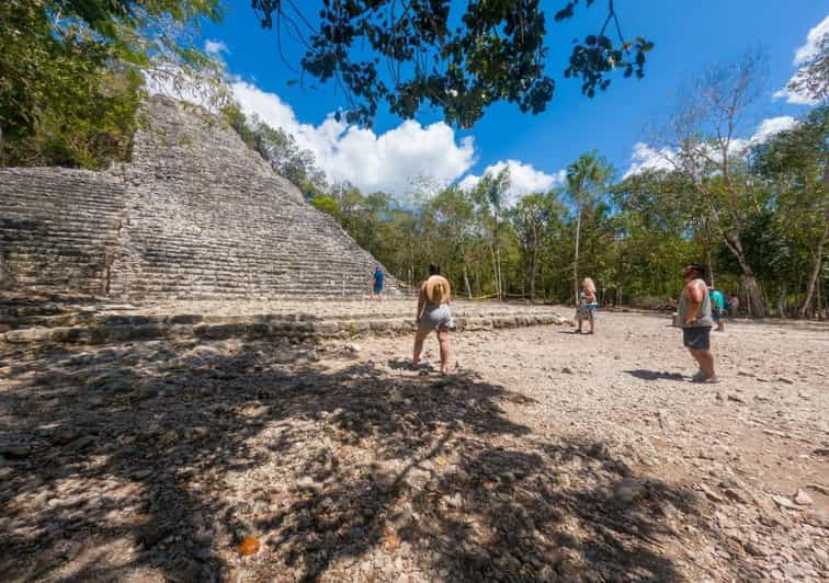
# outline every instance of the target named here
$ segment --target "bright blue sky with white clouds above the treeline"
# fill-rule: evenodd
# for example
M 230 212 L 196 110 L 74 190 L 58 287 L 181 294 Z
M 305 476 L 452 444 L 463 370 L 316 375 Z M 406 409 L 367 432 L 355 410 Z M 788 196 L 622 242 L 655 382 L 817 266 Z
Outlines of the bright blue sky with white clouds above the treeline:
M 310 11 L 320 2 L 299 3 Z M 435 124 L 440 116 L 429 111 L 414 124 L 381 112 L 373 132 L 336 124 L 329 115 L 344 105 L 342 95 L 332 85 L 316 90 L 288 85 L 297 75 L 281 61 L 275 33 L 260 28 L 248 2 L 234 2 L 222 24 L 204 27 L 203 37 L 214 48 L 227 47 L 222 56 L 240 80 L 235 87 L 246 111 L 298 134 L 300 145 L 317 155 L 332 180 L 399 195 L 419 174 L 470 184 L 487 168 L 512 160 L 520 195 L 556 183 L 569 162 L 591 149 L 624 174 L 637 142 L 647 141 L 646 127 L 665 119 L 671 95 L 683 80 L 758 45 L 769 55 L 770 77 L 765 94 L 749 114 L 745 137 L 764 119 L 803 115 L 806 105 L 773 99 L 773 93 L 795 72 L 795 52 L 806 44 L 809 31 L 821 23 L 829 27 L 826 0 L 616 0 L 625 34 L 646 36 L 656 48 L 648 55 L 643 80 L 618 76 L 607 92 L 590 100 L 581 95 L 579 82 L 565 79 L 563 71 L 570 41 L 601 26 L 604 1 L 582 9 L 567 23 L 552 20 L 564 0 L 544 4 L 548 4 L 548 69 L 556 79 L 547 111 L 522 114 L 516 106 L 497 104 L 463 132 Z M 287 55 L 296 56 L 289 45 L 283 37 Z

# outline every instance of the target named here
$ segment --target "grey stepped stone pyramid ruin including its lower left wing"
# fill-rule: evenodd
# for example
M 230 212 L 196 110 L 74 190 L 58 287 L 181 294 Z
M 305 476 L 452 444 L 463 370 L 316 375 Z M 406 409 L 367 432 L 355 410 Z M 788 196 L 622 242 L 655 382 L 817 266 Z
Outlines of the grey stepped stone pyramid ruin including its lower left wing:
M 349 298 L 377 261 L 217 118 L 154 96 L 132 161 L 0 169 L 0 287 L 126 300 Z M 388 292 L 400 285 L 388 278 Z

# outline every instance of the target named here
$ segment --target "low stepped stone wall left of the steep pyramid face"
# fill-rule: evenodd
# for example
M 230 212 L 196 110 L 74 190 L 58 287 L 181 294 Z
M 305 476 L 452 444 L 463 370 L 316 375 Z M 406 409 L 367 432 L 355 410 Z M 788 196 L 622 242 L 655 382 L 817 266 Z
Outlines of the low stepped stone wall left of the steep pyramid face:
M 0 287 L 105 295 L 124 193 L 101 172 L 0 169 Z

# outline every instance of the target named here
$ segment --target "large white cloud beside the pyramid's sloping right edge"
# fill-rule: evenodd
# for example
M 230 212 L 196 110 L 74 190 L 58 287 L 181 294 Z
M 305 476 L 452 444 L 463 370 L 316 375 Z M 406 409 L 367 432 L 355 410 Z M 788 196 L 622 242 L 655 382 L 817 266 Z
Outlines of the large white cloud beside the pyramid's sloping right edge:
M 447 184 L 475 163 L 473 138 L 458 142 L 443 122 L 422 126 L 406 121 L 381 135 L 337 122 L 332 115 L 314 126 L 300 123 L 275 93 L 242 81 L 231 87 L 246 114 L 257 114 L 268 125 L 292 134 L 300 148 L 314 153 L 332 183 L 349 181 L 363 192 L 401 196 L 420 176 Z

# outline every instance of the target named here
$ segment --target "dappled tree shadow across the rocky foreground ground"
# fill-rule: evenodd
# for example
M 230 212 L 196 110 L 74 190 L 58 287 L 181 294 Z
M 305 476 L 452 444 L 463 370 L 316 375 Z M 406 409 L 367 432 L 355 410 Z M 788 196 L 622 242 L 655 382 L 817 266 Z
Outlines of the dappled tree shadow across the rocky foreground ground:
M 264 343 L 54 351 L 0 384 L 11 581 L 682 579 L 693 494 L 541 439 L 526 397 Z M 667 519 L 667 517 L 670 518 Z M 259 555 L 240 558 L 247 536 Z M 21 558 L 26 557 L 26 560 Z

